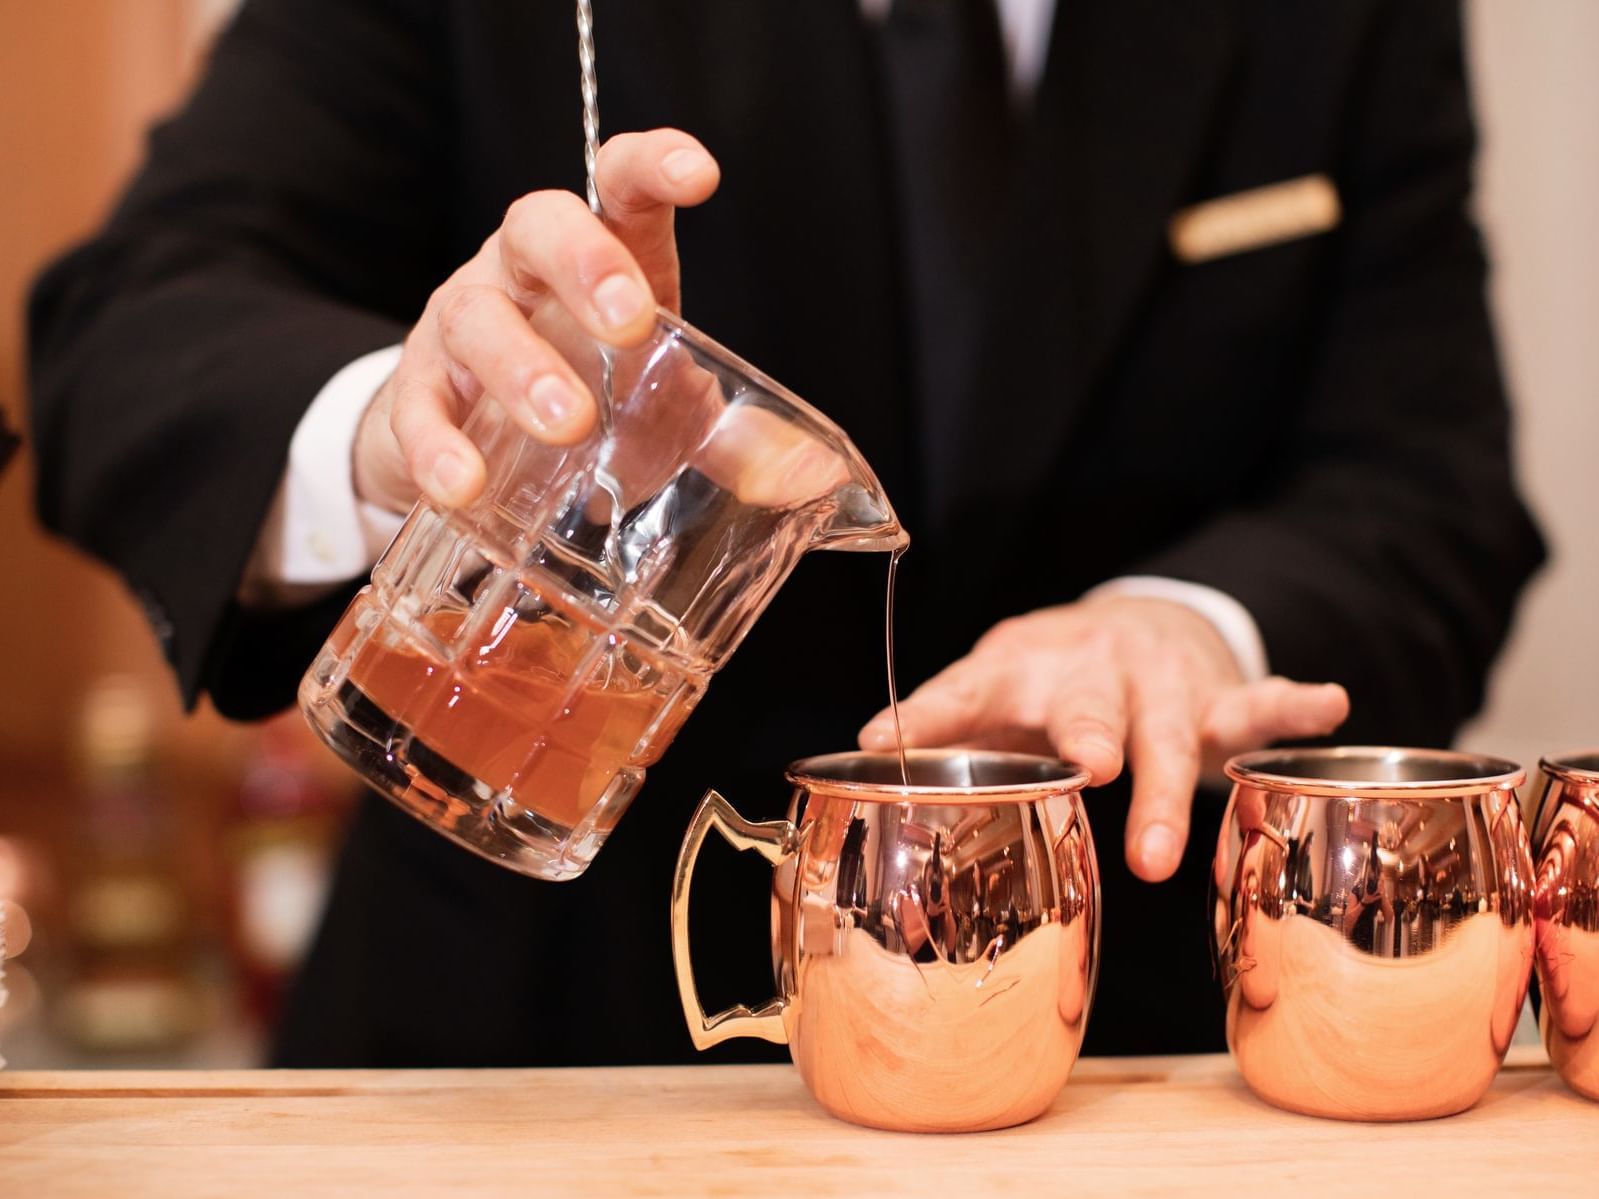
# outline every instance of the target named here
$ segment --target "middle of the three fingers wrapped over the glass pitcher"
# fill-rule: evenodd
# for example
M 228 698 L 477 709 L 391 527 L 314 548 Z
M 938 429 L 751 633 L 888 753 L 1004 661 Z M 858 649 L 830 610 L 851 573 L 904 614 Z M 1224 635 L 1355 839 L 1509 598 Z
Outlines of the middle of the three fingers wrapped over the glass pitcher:
M 593 395 L 499 288 L 451 291 L 438 331 L 449 358 L 539 441 L 569 446 L 593 428 Z

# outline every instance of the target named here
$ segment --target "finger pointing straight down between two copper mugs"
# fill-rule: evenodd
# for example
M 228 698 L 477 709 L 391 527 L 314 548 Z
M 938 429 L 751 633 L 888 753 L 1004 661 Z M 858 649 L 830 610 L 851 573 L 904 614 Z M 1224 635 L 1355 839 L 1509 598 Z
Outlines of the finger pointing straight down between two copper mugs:
M 1199 721 L 1186 684 L 1145 683 L 1134 689 L 1132 806 L 1127 865 L 1146 882 L 1172 876 L 1188 842 L 1188 811 L 1199 783 Z

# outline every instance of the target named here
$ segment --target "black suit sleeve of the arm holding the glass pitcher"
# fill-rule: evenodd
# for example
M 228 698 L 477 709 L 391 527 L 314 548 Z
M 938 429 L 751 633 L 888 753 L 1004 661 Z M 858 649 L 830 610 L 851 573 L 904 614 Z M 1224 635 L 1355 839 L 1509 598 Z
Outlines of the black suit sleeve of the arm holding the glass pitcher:
M 185 702 L 293 699 L 337 604 L 233 603 L 310 400 L 448 270 L 422 0 L 251 0 L 29 310 L 38 510 L 118 571 Z

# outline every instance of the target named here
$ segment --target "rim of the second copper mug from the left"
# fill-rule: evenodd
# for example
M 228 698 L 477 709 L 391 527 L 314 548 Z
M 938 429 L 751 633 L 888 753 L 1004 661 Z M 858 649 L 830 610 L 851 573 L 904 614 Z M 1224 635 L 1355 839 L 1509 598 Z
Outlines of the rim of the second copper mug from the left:
M 1527 771 L 1508 758 L 1402 745 L 1255 750 L 1228 759 L 1242 787 L 1348 799 L 1425 799 L 1508 791 Z

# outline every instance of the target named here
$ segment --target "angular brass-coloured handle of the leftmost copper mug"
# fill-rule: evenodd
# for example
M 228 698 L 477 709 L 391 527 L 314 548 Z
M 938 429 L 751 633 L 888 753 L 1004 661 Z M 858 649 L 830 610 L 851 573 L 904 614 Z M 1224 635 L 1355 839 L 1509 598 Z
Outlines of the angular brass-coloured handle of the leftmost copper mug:
M 705 791 L 705 798 L 694 809 L 694 820 L 689 822 L 683 849 L 678 850 L 678 868 L 672 876 L 672 964 L 678 974 L 678 998 L 683 1001 L 689 1036 L 696 1049 L 710 1049 L 739 1036 L 756 1036 L 785 1046 L 788 1033 L 784 1030 L 784 1009 L 788 1001 L 782 996 L 753 1012 L 744 1004 L 736 1004 L 716 1015 L 705 1015 L 700 1004 L 699 988 L 694 985 L 694 962 L 689 959 L 689 889 L 694 886 L 694 865 L 712 828 L 734 849 L 753 849 L 774 866 L 787 862 L 800 849 L 800 831 L 788 820 L 745 820 L 716 791 Z

